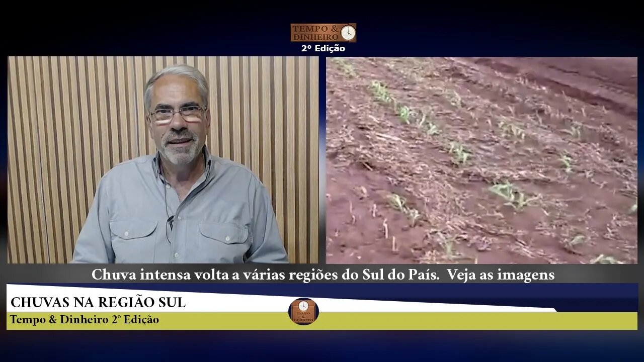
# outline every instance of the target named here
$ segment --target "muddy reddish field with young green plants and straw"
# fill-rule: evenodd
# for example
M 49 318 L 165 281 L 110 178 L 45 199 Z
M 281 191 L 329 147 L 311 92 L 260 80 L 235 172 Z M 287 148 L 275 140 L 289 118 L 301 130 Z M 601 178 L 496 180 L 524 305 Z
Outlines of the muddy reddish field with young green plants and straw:
M 328 58 L 327 263 L 637 263 L 637 77 Z

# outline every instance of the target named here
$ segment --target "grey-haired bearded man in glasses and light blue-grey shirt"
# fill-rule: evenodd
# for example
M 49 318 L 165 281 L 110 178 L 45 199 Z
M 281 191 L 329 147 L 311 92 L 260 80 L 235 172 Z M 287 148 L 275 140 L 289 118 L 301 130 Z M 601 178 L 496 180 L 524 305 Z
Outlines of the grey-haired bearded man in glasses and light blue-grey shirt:
M 99 182 L 72 263 L 287 263 L 269 195 L 246 167 L 211 155 L 209 88 L 191 66 L 146 84 L 156 155 Z

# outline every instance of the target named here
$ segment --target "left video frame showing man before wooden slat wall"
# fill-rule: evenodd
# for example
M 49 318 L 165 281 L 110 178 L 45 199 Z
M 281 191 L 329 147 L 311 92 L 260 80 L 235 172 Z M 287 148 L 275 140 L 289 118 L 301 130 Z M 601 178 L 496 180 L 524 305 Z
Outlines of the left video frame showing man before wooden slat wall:
M 9 57 L 8 263 L 317 263 L 317 57 Z

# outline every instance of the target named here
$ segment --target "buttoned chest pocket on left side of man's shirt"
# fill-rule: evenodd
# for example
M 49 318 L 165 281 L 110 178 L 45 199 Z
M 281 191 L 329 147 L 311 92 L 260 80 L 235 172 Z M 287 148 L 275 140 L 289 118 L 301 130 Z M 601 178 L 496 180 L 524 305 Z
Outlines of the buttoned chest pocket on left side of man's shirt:
M 115 263 L 153 263 L 157 225 L 153 220 L 109 222 Z

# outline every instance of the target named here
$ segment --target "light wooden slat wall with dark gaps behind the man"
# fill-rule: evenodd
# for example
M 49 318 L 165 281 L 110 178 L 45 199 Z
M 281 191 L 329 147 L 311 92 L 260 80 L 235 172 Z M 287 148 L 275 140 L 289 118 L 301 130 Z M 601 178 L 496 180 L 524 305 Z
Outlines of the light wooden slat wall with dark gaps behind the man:
M 269 189 L 290 262 L 318 262 L 317 57 L 9 57 L 8 262 L 71 260 L 102 175 L 155 152 L 144 86 L 177 63 L 210 83 L 211 152 Z

